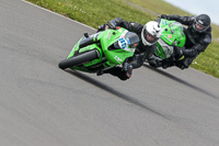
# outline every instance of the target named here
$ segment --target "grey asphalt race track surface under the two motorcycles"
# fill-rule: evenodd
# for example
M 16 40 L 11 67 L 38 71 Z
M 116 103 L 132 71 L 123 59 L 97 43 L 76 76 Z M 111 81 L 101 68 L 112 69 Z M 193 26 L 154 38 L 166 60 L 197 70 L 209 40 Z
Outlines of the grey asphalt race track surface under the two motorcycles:
M 58 63 L 94 30 L 0 0 L 1 146 L 218 146 L 219 79 L 147 65 L 120 81 Z

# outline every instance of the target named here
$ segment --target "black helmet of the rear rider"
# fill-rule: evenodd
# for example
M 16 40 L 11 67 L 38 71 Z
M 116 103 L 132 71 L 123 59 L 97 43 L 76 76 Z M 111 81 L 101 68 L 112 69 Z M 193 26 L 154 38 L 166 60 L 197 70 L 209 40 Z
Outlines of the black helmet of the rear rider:
M 210 26 L 210 18 L 207 14 L 200 14 L 195 18 L 193 29 L 199 33 L 205 32 Z

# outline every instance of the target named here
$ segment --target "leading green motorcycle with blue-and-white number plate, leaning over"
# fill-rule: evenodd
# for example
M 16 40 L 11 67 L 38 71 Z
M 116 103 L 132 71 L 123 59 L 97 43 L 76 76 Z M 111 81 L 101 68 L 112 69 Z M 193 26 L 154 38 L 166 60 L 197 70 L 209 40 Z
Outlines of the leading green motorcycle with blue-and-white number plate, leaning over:
M 84 33 L 68 57 L 59 63 L 59 68 L 97 74 L 123 65 L 134 55 L 139 41 L 137 34 L 123 27 L 92 35 Z

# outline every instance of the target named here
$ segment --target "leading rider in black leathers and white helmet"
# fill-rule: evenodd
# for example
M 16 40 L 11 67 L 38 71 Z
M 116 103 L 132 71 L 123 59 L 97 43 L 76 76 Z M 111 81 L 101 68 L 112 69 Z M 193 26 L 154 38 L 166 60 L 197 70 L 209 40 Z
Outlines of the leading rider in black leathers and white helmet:
M 161 27 L 155 21 L 149 21 L 143 26 L 137 22 L 127 22 L 122 18 L 116 18 L 108 21 L 106 24 L 100 25 L 97 32 L 104 31 L 106 27 L 116 29 L 117 26 L 136 33 L 139 36 L 140 42 L 136 47 L 134 56 L 128 58 L 123 67 L 114 67 L 108 70 L 102 70 L 101 72 L 97 72 L 97 76 L 103 74 L 111 74 L 118 77 L 120 80 L 127 80 L 131 77 L 132 69 L 141 67 L 143 61 L 154 54 L 157 48 L 157 41 L 161 36 Z

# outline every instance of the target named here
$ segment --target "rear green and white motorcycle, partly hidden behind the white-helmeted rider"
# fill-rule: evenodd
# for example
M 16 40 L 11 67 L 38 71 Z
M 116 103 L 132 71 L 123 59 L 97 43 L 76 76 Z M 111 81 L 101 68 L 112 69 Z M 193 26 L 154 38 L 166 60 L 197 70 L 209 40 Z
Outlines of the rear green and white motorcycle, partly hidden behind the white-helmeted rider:
M 160 26 L 162 34 L 157 43 L 155 54 L 147 60 L 153 67 L 160 67 L 163 60 L 175 61 L 184 58 L 183 55 L 176 54 L 176 49 L 183 47 L 186 41 L 183 25 L 176 21 L 161 19 Z

